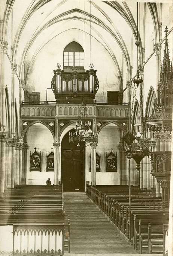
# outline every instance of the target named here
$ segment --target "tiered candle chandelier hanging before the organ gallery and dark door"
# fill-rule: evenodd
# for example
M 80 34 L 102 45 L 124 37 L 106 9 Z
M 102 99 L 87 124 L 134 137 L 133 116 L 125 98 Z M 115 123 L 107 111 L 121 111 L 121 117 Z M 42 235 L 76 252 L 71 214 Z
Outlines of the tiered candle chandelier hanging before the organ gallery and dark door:
M 78 121 L 76 122 L 76 131 L 69 132 L 69 142 L 73 142 L 77 146 L 89 146 L 92 143 L 97 143 L 97 138 L 98 134 L 93 133 L 91 130 L 91 120 L 88 118 L 85 100 L 83 99 Z

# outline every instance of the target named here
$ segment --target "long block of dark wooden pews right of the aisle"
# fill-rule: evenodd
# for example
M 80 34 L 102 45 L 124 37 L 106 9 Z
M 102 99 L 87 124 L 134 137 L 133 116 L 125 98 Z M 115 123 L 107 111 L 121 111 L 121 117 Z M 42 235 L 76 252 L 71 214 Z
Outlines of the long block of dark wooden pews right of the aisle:
M 121 186 L 119 186 L 119 188 L 115 186 L 116 188 L 112 187 L 110 191 L 106 191 L 106 186 L 103 186 L 102 189 L 106 191 L 108 195 L 110 194 L 110 196 L 101 192 L 96 187 L 97 186 L 93 187 L 87 184 L 86 195 L 100 208 L 110 221 L 115 224 L 136 250 L 139 248 L 139 250 L 142 251 L 142 247 L 139 246 L 139 229 L 141 230 L 141 222 L 143 225 L 145 224 L 144 226 L 147 229 L 145 231 L 147 239 L 149 222 L 157 225 L 156 227 L 159 232 L 160 229 L 158 228 L 160 228 L 160 226 L 158 227 L 158 225 L 162 225 L 163 229 L 163 224 L 168 223 L 169 202 L 165 202 L 163 205 L 161 194 L 152 192 L 152 190 L 145 194 L 140 191 L 139 188 L 134 187 L 131 193 L 131 211 L 129 212 L 128 190 L 125 186 L 122 186 L 121 189 Z M 101 189 L 99 186 L 98 188 Z M 161 232 L 161 234 L 163 239 L 163 232 Z M 161 244 L 163 244 L 163 242 L 161 242 Z

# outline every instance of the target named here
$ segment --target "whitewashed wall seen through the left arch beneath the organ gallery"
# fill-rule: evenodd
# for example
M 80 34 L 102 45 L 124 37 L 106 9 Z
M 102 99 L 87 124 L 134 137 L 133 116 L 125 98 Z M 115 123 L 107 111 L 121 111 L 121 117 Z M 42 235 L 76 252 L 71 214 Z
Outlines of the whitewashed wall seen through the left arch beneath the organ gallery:
M 53 149 L 54 138 L 51 131 L 42 123 L 34 123 L 27 130 L 25 143 L 28 145 L 26 159 L 26 184 L 46 184 L 46 180 L 50 178 L 54 184 L 54 171 L 47 171 L 47 154 Z M 40 170 L 39 168 L 31 168 L 30 155 L 36 151 L 40 154 Z

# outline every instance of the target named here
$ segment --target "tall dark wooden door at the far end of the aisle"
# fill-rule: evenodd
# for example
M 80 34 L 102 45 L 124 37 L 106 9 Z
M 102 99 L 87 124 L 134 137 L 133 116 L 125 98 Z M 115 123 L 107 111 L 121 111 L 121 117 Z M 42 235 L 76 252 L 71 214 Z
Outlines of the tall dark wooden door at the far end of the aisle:
M 66 134 L 61 142 L 61 182 L 64 191 L 84 191 L 84 170 L 84 148 L 69 143 L 69 134 Z

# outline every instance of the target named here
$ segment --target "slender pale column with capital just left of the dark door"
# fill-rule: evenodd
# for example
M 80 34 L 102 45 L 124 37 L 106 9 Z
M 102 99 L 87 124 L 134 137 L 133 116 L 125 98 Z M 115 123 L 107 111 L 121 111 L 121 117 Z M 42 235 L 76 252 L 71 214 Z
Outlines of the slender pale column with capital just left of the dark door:
M 54 185 L 59 185 L 59 177 L 60 177 L 60 170 L 59 170 L 59 162 L 60 162 L 60 155 L 59 155 L 59 148 L 60 148 L 60 143 L 59 142 L 54 142 Z

